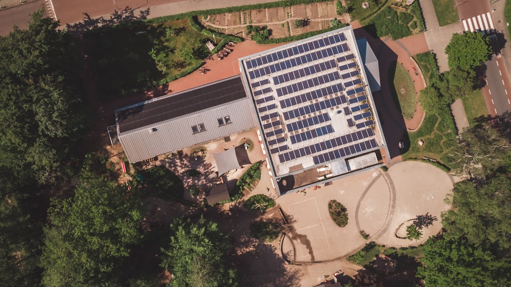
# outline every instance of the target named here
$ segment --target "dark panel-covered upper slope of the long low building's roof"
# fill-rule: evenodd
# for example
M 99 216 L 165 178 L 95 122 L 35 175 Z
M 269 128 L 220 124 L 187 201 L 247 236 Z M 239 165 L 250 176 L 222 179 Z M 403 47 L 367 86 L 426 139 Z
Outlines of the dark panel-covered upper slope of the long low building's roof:
M 156 124 L 246 97 L 241 77 L 220 80 L 117 111 L 120 132 Z

